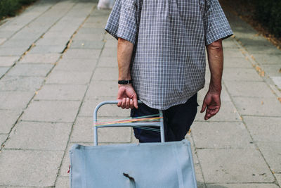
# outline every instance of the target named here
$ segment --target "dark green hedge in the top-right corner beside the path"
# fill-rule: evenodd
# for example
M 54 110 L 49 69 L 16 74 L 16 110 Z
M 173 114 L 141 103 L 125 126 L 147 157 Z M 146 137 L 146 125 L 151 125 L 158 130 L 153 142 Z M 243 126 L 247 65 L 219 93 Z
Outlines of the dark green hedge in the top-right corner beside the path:
M 254 4 L 256 19 L 281 37 L 281 0 L 254 0 Z

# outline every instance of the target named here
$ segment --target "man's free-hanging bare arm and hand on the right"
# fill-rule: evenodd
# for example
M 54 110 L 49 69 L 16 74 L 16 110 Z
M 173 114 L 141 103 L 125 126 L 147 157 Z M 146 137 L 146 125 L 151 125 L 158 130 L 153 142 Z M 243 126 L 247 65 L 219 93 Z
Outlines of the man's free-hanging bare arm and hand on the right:
M 204 98 L 201 113 L 206 108 L 204 119 L 208 120 L 218 113 L 221 108 L 221 77 L 223 75 L 223 45 L 219 39 L 207 46 L 209 68 L 211 71 L 211 80 L 209 90 Z

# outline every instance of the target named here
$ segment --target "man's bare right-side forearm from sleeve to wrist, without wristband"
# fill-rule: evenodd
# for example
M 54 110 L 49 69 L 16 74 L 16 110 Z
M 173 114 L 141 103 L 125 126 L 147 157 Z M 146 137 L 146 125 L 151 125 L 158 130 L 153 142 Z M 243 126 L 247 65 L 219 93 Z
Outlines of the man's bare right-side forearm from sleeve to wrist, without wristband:
M 210 92 L 221 93 L 221 77 L 223 75 L 223 45 L 221 39 L 207 46 L 208 62 L 211 72 Z

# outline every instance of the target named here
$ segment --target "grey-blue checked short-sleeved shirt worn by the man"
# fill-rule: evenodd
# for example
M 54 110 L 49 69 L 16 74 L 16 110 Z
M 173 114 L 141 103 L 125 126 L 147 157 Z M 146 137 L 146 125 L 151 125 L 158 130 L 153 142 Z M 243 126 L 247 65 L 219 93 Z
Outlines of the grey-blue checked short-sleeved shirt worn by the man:
M 218 0 L 116 0 L 105 30 L 135 44 L 133 87 L 161 110 L 204 87 L 205 46 L 233 35 Z

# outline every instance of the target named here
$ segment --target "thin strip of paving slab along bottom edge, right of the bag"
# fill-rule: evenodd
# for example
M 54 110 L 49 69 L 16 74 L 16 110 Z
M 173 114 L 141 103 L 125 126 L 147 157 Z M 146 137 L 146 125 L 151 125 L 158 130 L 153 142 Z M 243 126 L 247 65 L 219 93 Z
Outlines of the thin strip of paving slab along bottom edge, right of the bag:
M 276 184 L 207 184 L 207 188 L 277 188 Z

